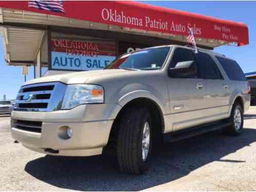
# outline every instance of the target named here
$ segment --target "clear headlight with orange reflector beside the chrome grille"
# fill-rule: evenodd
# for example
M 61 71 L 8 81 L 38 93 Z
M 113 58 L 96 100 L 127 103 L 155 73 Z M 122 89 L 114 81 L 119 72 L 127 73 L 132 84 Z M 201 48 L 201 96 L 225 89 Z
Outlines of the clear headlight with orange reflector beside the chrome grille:
M 104 90 L 94 84 L 70 84 L 62 102 L 61 109 L 72 109 L 86 103 L 103 103 Z

